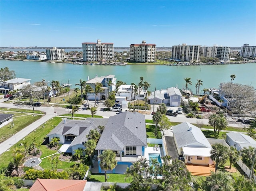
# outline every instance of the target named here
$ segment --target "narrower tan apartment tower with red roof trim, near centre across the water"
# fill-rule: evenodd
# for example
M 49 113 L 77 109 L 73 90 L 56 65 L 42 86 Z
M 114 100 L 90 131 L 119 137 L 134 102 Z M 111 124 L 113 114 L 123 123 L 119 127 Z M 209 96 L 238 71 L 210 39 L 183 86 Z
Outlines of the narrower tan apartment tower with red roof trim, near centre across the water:
M 130 60 L 135 62 L 156 62 L 156 44 L 146 44 L 144 40 L 141 44 L 131 44 Z

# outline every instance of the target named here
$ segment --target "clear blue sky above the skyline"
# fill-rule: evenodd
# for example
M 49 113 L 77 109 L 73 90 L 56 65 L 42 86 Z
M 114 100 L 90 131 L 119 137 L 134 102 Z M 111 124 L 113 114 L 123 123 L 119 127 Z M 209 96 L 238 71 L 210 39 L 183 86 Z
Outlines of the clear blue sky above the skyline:
M 255 0 L 0 0 L 0 46 L 255 46 L 255 10 Z

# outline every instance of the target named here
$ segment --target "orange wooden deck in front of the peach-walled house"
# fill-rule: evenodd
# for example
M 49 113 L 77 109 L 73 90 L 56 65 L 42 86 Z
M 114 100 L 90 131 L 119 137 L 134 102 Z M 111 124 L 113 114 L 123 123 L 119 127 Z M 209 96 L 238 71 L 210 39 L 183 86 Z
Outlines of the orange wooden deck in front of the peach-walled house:
M 214 165 L 194 165 L 194 164 L 186 164 L 188 171 L 191 172 L 194 176 L 209 176 L 211 175 L 211 171 L 215 171 Z

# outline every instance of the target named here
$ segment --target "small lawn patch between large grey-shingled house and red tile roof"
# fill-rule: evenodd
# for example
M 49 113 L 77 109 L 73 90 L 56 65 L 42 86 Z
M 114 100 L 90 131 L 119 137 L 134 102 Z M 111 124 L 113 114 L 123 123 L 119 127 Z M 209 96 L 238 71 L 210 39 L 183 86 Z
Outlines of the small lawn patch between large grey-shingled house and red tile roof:
M 124 174 L 107 174 L 107 177 L 108 182 L 130 183 L 128 178 L 124 180 Z M 88 181 L 105 182 L 104 173 L 92 174 L 90 175 L 90 179 L 88 179 Z

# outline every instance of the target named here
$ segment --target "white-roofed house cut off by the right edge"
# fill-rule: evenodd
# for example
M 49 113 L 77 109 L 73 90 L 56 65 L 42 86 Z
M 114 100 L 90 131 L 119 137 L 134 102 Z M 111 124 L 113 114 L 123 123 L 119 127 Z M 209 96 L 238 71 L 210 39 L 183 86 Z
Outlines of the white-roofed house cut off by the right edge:
M 256 141 L 246 134 L 229 132 L 226 135 L 226 142 L 228 145 L 233 146 L 238 151 L 249 146 L 256 148 Z

